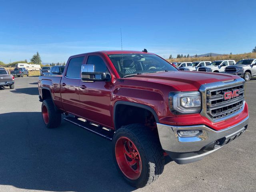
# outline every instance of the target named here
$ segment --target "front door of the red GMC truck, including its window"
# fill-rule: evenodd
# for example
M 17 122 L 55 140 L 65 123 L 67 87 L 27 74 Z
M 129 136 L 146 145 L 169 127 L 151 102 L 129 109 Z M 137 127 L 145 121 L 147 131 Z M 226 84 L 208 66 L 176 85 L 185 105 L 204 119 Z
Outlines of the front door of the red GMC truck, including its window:
M 101 54 L 88 54 L 86 57 L 87 65 L 94 65 L 95 72 L 105 72 L 110 74 L 107 62 Z M 95 78 L 100 78 L 97 75 Z M 80 106 L 83 117 L 92 122 L 113 128 L 110 114 L 110 99 L 112 82 L 94 81 L 82 82 L 79 84 Z

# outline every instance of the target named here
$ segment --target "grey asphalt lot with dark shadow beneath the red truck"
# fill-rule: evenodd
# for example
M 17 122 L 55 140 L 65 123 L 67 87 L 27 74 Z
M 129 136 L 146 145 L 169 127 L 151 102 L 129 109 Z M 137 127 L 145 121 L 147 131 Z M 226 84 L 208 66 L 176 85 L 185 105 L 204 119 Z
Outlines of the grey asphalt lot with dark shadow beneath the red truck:
M 256 191 L 256 80 L 246 82 L 250 126 L 200 162 L 166 158 L 160 178 L 135 189 L 118 175 L 111 143 L 68 122 L 42 122 L 36 77 L 0 88 L 0 191 L 252 192 Z

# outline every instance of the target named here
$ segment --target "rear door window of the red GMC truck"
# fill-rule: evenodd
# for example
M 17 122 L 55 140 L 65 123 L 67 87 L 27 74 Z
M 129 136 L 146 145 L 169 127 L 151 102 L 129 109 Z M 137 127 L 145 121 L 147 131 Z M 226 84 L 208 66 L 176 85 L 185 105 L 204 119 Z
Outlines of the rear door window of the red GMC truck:
M 69 61 L 66 76 L 70 78 L 81 78 L 81 67 L 84 57 L 72 58 Z

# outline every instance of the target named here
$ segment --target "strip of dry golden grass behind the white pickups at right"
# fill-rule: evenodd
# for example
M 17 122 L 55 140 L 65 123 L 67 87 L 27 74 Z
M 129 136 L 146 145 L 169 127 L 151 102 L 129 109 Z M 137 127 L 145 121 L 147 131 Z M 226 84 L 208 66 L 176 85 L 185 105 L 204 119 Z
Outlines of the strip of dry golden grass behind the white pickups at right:
M 195 62 L 195 61 L 215 61 L 215 60 L 235 60 L 238 62 L 242 59 L 256 58 L 256 53 L 245 53 L 236 55 L 221 55 L 216 57 L 189 57 L 189 58 L 175 58 L 167 59 L 168 62 Z

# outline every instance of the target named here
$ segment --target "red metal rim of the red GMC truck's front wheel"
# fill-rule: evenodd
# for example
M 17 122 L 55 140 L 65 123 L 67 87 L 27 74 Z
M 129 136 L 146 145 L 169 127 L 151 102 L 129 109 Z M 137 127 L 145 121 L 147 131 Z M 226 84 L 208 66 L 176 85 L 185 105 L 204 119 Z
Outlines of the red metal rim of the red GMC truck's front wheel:
M 120 137 L 115 147 L 116 161 L 122 173 L 131 180 L 140 177 L 142 163 L 138 149 L 127 137 Z

